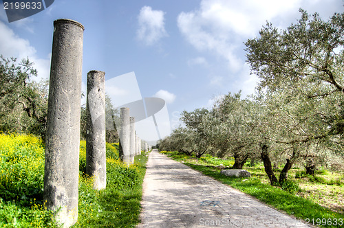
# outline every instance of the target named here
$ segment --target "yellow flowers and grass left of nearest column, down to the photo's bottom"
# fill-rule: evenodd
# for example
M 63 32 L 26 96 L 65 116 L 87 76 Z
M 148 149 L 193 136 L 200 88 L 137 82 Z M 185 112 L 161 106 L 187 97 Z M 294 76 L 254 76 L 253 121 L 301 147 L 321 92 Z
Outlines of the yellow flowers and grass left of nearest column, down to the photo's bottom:
M 44 145 L 31 135 L 0 135 L 0 226 L 56 227 L 43 203 Z

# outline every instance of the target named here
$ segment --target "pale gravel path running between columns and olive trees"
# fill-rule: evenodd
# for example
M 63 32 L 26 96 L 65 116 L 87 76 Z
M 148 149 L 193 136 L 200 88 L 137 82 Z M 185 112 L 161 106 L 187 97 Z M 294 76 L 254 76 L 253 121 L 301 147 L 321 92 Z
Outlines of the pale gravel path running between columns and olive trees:
M 138 227 L 309 227 L 153 150 Z

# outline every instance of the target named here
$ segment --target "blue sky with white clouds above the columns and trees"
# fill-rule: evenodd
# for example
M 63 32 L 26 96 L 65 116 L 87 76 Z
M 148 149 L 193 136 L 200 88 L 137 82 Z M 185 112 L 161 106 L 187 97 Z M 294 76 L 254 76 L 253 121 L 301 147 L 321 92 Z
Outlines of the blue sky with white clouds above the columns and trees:
M 254 92 L 244 42 L 266 21 L 280 28 L 296 23 L 299 8 L 327 20 L 343 12 L 343 0 L 55 0 L 46 10 L 8 23 L 0 9 L 0 54 L 29 57 L 48 78 L 53 21 L 85 26 L 83 88 L 87 72 L 105 80 L 134 71 L 142 98 L 166 101 L 171 126 L 180 112 L 211 106 L 229 91 Z M 120 88 L 118 88 L 120 91 Z

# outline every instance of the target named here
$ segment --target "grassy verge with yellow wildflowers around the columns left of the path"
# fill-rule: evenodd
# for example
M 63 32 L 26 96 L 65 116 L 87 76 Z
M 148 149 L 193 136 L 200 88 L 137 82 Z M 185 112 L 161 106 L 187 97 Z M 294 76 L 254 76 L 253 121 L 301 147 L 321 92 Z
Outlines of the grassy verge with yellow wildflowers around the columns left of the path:
M 44 151 L 30 135 L 0 135 L 0 227 L 58 227 L 43 203 Z M 125 167 L 118 144 L 107 144 L 107 188 L 92 189 L 80 141 L 79 211 L 74 227 L 135 227 L 139 222 L 147 155 Z

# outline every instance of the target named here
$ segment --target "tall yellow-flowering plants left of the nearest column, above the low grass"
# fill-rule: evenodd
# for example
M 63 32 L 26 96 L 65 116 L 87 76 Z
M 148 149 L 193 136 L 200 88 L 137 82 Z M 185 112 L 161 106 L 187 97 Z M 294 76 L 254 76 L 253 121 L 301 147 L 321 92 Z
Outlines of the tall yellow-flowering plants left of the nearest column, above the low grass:
M 28 205 L 42 201 L 44 147 L 30 135 L 0 135 L 0 197 Z

